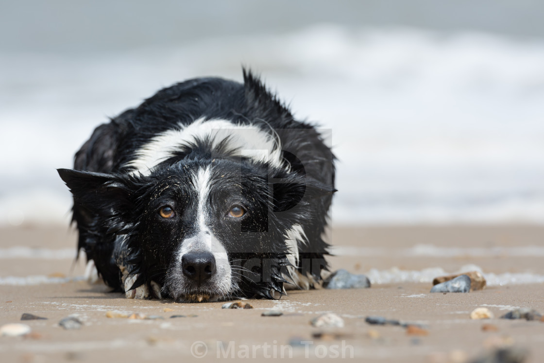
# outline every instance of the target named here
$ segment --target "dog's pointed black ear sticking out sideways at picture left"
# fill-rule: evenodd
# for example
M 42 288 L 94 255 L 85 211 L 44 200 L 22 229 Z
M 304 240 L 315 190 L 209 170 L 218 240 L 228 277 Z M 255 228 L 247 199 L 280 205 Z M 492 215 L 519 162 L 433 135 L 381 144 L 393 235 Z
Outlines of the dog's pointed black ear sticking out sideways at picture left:
M 139 188 L 134 177 L 72 169 L 57 171 L 73 194 L 74 208 L 83 207 L 105 217 L 110 231 L 121 232 L 133 223 L 134 192 Z

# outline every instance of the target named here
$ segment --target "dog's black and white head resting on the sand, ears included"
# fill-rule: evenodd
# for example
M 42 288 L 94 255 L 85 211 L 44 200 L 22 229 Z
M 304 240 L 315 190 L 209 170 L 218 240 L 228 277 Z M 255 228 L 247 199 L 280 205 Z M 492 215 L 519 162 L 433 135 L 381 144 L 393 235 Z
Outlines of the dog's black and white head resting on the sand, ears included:
M 150 175 L 59 174 L 75 204 L 120 238 L 118 263 L 138 276 L 132 288 L 155 281 L 180 302 L 281 293 L 296 253 L 289 233 L 311 218 L 312 199 L 332 192 L 243 158 L 184 160 Z

